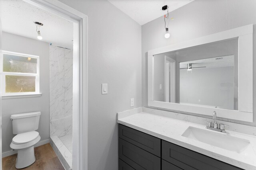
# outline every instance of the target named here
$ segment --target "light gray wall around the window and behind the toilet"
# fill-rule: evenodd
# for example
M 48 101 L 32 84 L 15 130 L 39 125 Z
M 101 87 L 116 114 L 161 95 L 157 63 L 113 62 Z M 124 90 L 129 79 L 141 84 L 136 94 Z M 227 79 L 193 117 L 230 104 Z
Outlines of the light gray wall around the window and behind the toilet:
M 3 32 L 2 48 L 5 51 L 40 56 L 40 92 L 41 97 L 2 99 L 2 152 L 12 150 L 10 143 L 12 121 L 10 115 L 41 111 L 38 132 L 41 141 L 49 139 L 49 45 L 34 39 Z

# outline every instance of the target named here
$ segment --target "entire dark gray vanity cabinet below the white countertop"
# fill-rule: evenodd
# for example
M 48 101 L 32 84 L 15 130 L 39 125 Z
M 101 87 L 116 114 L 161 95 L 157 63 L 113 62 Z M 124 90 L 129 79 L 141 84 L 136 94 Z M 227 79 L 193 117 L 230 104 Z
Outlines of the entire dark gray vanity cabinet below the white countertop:
M 118 128 L 119 170 L 242 170 L 130 127 Z

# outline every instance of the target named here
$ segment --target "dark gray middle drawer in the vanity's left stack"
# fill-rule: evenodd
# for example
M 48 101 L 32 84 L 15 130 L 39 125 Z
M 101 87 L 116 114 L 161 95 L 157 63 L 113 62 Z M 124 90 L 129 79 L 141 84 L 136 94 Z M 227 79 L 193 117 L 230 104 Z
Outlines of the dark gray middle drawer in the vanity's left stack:
M 160 170 L 161 168 L 160 158 L 121 138 L 118 139 L 118 156 L 135 170 Z

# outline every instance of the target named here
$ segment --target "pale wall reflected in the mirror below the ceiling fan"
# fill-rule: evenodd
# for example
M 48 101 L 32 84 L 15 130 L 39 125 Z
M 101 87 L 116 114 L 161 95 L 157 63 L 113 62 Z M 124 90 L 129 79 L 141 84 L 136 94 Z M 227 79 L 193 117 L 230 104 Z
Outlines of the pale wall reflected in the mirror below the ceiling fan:
M 180 70 L 180 103 L 234 109 L 234 66 Z

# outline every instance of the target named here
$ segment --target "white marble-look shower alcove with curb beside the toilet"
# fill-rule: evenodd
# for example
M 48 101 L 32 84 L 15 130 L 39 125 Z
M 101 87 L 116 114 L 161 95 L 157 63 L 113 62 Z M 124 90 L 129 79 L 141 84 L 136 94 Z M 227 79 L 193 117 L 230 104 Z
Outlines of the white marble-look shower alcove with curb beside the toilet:
M 72 169 L 73 50 L 50 45 L 50 143 Z

